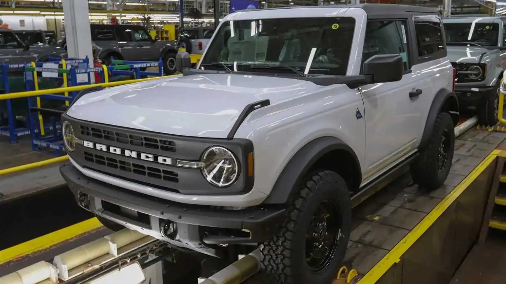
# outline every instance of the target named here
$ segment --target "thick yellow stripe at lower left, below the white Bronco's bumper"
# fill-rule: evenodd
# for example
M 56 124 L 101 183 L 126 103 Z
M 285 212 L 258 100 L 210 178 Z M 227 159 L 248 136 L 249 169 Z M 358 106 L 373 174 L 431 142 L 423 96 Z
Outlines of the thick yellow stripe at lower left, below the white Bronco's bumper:
M 36 251 L 47 249 L 101 226 L 102 223 L 100 223 L 97 218 L 91 218 L 46 235 L 39 236 L 36 239 L 0 251 L 0 264 Z

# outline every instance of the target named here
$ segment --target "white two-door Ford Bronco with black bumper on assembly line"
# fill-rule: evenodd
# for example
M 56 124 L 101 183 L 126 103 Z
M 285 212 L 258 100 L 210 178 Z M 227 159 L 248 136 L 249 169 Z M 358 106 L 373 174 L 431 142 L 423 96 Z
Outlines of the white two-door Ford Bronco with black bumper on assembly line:
M 394 169 L 435 189 L 458 103 L 441 18 L 387 4 L 226 16 L 183 76 L 83 91 L 62 116 L 78 204 L 174 247 L 260 245 L 278 283 L 330 283 L 351 208 Z M 390 175 L 392 176 L 392 175 Z

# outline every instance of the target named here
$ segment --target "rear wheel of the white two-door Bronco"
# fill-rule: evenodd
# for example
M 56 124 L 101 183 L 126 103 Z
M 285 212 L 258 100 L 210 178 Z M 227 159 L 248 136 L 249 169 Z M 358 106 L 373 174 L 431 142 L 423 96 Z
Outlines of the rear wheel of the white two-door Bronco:
M 418 157 L 410 165 L 413 181 L 426 188 L 436 190 L 448 177 L 453 150 L 455 130 L 450 114 L 440 113 L 434 123 L 428 145 L 420 150 Z

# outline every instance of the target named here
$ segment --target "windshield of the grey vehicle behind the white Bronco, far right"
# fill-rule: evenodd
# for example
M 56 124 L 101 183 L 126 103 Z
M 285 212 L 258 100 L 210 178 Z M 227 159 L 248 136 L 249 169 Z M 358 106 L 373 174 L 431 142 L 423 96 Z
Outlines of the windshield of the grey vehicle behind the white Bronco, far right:
M 446 44 L 475 44 L 497 46 L 499 25 L 497 23 L 444 23 Z

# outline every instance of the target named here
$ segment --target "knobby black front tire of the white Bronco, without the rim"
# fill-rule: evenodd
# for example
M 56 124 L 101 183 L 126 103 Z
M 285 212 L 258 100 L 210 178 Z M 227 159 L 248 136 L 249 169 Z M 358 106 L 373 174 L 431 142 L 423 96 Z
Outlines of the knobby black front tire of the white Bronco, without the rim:
M 337 173 L 324 170 L 309 175 L 298 186 L 288 206 L 285 220 L 273 239 L 260 246 L 262 268 L 276 283 L 330 283 L 335 279 L 346 253 L 351 230 L 351 201 L 345 180 Z M 306 262 L 307 230 L 320 202 L 330 200 L 340 215 L 341 233 L 333 257 L 319 272 Z

